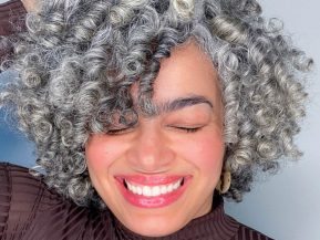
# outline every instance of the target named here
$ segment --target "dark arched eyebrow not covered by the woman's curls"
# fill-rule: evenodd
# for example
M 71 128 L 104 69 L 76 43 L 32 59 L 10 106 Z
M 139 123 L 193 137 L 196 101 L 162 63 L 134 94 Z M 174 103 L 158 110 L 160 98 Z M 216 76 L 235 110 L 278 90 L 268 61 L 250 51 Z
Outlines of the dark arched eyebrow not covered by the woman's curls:
M 155 113 L 156 115 L 159 115 L 162 113 L 171 113 L 171 112 L 182 109 L 184 107 L 194 106 L 198 104 L 207 104 L 210 106 L 210 108 L 214 108 L 213 103 L 209 100 L 207 100 L 205 96 L 192 95 L 187 97 L 178 97 L 176 100 L 159 104 L 155 107 L 156 109 Z

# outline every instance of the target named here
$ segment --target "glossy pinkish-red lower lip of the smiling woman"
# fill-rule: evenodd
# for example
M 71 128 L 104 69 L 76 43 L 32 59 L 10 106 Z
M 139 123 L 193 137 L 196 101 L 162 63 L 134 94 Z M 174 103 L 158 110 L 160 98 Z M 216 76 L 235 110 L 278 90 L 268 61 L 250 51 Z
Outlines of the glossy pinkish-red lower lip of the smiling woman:
M 184 185 L 180 186 L 178 189 L 166 195 L 159 195 L 157 197 L 145 197 L 143 195 L 135 195 L 128 189 L 126 189 L 123 182 L 118 182 L 118 181 L 117 182 L 120 186 L 120 190 L 122 195 L 124 196 L 125 200 L 127 200 L 133 206 L 136 206 L 140 208 L 162 208 L 162 207 L 172 205 L 173 202 L 178 200 L 179 197 L 182 197 L 185 189 L 187 188 L 188 180 L 189 179 L 184 178 Z

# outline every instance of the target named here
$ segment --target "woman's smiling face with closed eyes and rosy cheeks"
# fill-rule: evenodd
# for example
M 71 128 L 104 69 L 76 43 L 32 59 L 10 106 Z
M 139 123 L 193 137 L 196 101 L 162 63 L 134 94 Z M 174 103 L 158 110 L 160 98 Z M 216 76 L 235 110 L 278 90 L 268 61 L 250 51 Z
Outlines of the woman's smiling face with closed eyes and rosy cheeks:
M 116 218 L 138 234 L 158 237 L 209 212 L 223 167 L 217 72 L 194 42 L 162 61 L 153 103 L 157 115 L 93 134 L 85 155 L 92 184 Z

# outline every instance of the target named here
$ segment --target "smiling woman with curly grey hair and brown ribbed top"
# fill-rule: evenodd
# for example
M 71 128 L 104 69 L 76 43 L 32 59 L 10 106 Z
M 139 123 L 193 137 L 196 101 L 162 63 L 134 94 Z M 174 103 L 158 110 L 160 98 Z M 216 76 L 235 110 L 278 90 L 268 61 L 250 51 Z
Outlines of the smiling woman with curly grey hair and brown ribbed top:
M 44 175 L 1 165 L 0 236 L 270 239 L 225 215 L 221 196 L 240 201 L 255 174 L 299 157 L 311 61 L 260 13 L 256 1 L 42 2 L 0 105 Z

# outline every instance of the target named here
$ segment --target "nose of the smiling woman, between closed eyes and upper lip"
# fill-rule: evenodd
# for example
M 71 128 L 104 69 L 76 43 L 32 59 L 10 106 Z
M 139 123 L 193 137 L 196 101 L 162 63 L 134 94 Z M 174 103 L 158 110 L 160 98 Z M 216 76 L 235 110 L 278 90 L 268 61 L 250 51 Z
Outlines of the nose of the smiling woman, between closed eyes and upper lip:
M 156 123 L 140 124 L 127 150 L 126 159 L 141 173 L 163 173 L 169 169 L 175 159 L 168 137 Z

